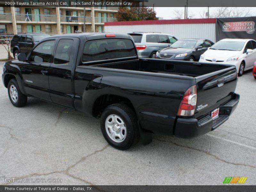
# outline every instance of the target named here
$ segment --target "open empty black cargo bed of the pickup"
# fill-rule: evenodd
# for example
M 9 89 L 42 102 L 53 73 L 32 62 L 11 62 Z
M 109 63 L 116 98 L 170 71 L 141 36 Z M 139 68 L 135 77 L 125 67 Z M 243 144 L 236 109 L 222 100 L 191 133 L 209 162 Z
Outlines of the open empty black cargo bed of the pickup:
M 93 65 L 104 68 L 125 69 L 133 71 L 145 71 L 153 73 L 166 73 L 180 76 L 197 77 L 208 73 L 219 71 L 230 66 L 206 64 L 189 61 L 139 59 L 130 61 L 117 61 Z

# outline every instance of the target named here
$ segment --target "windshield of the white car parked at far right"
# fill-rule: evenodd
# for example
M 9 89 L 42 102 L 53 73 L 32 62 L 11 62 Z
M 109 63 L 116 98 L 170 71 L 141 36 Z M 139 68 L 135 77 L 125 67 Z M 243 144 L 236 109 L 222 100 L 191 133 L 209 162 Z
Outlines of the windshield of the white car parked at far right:
M 210 49 L 241 51 L 243 47 L 244 42 L 241 41 L 219 41 L 216 44 L 212 45 Z

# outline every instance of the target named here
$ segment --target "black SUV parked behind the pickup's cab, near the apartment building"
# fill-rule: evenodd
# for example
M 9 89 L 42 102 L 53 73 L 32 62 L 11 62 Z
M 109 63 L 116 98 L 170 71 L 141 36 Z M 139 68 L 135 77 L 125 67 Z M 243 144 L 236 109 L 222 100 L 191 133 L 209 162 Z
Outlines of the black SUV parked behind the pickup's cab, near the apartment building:
M 28 33 L 13 36 L 11 41 L 11 52 L 13 53 L 13 57 L 18 59 L 18 54 L 20 52 L 29 53 L 35 44 L 49 36 L 50 35 L 44 33 Z

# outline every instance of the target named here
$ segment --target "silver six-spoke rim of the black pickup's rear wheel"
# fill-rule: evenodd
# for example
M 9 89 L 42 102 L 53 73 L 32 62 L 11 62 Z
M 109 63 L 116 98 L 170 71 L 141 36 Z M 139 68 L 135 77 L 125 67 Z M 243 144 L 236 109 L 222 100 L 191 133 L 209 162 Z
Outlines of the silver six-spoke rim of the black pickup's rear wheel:
M 106 132 L 108 137 L 120 143 L 126 138 L 126 127 L 124 121 L 117 115 L 109 115 L 105 122 Z

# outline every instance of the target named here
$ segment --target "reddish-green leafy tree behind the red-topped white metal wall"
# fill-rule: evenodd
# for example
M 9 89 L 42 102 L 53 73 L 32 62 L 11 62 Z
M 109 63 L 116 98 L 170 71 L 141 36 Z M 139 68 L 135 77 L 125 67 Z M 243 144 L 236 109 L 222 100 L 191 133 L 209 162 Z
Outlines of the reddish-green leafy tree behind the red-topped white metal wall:
M 149 7 L 120 7 L 116 18 L 118 21 L 157 20 L 156 12 Z

